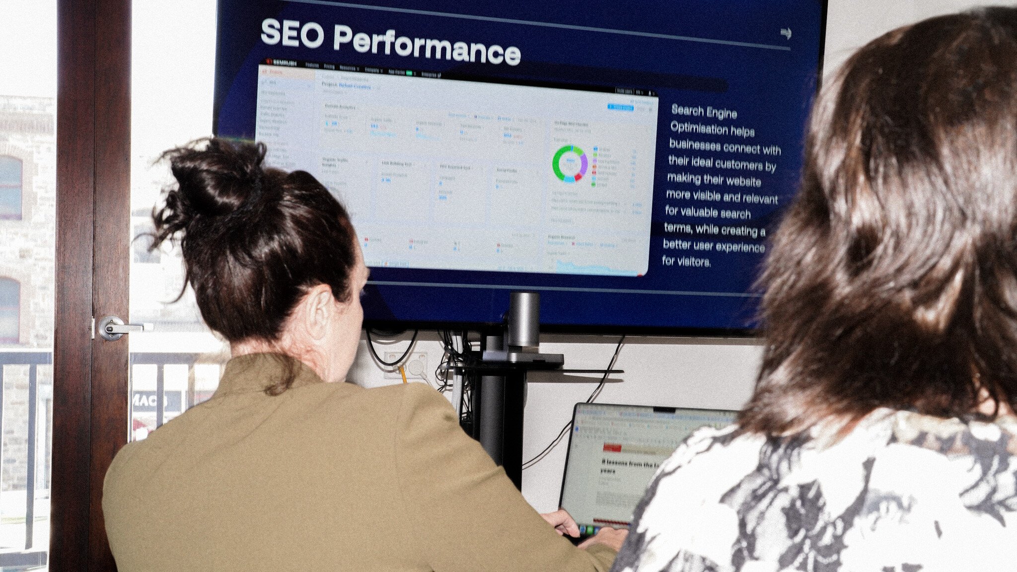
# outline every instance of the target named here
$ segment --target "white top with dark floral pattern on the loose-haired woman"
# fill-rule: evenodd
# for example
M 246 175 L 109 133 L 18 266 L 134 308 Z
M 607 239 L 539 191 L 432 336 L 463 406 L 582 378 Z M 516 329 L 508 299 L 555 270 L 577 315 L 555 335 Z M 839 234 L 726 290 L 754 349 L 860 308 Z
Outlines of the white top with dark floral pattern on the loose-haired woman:
M 846 437 L 693 434 L 612 572 L 1017 571 L 1017 417 L 878 409 Z

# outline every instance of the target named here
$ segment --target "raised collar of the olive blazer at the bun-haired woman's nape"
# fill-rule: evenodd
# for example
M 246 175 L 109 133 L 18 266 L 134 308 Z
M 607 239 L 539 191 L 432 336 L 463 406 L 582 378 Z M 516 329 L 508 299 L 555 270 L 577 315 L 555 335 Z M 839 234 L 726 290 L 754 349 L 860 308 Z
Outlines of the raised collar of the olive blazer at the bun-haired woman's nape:
M 263 392 L 288 375 L 293 375 L 290 389 L 324 381 L 304 362 L 282 353 L 249 353 L 234 357 L 226 363 L 226 370 L 219 381 L 213 398 L 224 395 Z M 284 394 L 285 395 L 285 394 Z

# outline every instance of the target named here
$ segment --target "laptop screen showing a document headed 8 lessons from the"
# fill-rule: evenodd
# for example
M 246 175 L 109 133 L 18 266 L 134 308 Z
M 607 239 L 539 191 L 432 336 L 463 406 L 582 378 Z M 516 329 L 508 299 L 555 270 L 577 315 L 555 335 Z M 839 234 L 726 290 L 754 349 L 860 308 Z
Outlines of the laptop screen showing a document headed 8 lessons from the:
M 626 527 L 650 478 L 694 431 L 734 422 L 737 411 L 578 403 L 561 508 L 584 534 Z

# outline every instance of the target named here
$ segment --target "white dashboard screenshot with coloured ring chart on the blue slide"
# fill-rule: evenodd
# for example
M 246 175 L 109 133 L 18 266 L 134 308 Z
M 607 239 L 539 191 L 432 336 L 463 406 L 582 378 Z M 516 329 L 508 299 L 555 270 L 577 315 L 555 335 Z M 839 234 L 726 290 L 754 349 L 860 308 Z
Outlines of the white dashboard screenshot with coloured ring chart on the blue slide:
M 656 97 L 368 69 L 261 64 L 255 131 L 343 202 L 367 266 L 646 274 Z

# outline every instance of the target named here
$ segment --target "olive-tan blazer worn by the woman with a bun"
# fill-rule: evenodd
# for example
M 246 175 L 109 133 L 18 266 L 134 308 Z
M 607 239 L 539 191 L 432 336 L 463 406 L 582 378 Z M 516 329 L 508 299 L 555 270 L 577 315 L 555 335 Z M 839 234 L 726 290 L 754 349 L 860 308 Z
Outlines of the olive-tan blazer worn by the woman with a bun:
M 135 571 L 606 571 L 575 548 L 423 384 L 363 389 L 288 358 L 231 360 L 201 403 L 125 446 L 103 490 Z

